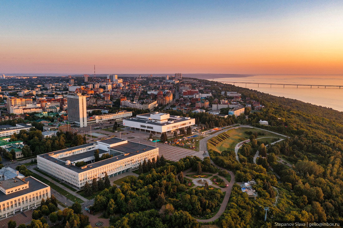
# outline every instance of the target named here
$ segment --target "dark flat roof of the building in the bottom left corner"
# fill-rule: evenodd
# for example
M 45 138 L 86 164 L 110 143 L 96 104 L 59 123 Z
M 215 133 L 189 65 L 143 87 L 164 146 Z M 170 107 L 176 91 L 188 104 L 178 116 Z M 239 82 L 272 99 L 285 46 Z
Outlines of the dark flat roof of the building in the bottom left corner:
M 12 192 L 10 194 L 5 194 L 3 193 L 2 191 L 0 191 L 0 201 L 6 201 L 6 200 L 9 200 L 9 199 L 13 199 L 13 198 L 17 198 L 21 195 L 24 195 L 24 194 L 28 194 L 28 193 L 31 193 L 33 191 L 37 191 L 39 189 L 43 189 L 43 188 L 46 188 L 46 187 L 49 187 L 48 185 L 45 185 L 44 183 L 38 181 L 37 179 L 29 176 L 29 177 L 25 177 L 23 178 L 25 179 L 25 182 L 28 181 L 28 188 L 25 188 L 23 190 L 20 190 L 20 191 L 16 191 L 16 192 Z

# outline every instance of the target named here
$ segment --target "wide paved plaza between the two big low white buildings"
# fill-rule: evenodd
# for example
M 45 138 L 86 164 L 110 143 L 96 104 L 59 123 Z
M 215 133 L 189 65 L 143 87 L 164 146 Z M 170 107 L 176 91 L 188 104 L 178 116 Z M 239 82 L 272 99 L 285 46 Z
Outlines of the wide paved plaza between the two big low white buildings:
M 93 132 L 96 132 L 98 134 L 102 134 L 103 136 L 99 136 L 94 138 Z M 90 135 L 90 132 L 87 132 L 87 135 Z M 149 138 L 150 132 L 144 132 L 144 131 L 139 131 L 139 130 L 123 130 L 120 132 L 109 132 L 109 131 L 104 131 L 101 129 L 96 129 L 92 130 L 92 138 L 87 137 L 87 142 L 95 142 L 97 140 L 102 140 L 110 137 L 117 137 L 117 138 L 122 138 L 126 139 L 132 142 L 138 142 L 146 145 L 150 145 L 153 147 L 158 147 L 159 148 L 159 156 L 161 157 L 162 155 L 165 157 L 165 159 L 170 160 L 170 161 L 178 161 L 183 157 L 186 156 L 197 156 L 200 157 L 200 159 L 203 159 L 202 152 L 198 151 L 193 151 L 193 150 L 188 150 L 180 147 L 175 147 L 172 145 L 160 143 L 160 142 L 151 142 L 151 141 L 145 141 L 145 139 Z

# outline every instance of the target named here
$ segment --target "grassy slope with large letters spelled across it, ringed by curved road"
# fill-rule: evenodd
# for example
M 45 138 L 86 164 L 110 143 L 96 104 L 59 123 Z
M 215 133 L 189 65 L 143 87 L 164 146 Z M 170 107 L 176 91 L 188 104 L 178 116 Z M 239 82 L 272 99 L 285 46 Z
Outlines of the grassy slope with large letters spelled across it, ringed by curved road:
M 264 135 L 261 135 L 261 136 L 258 135 L 257 138 L 261 138 L 261 137 L 284 138 L 282 136 L 275 135 L 274 133 L 271 133 L 271 132 L 268 132 L 268 131 L 265 131 L 262 129 L 240 127 L 240 128 L 228 130 L 228 131 L 223 132 L 222 134 L 217 135 L 216 137 L 213 137 L 212 139 L 210 139 L 207 143 L 208 149 L 211 149 L 213 151 L 217 151 L 219 153 L 224 151 L 224 150 L 232 150 L 233 151 L 233 150 L 235 150 L 235 145 L 237 143 L 244 141 L 250 137 L 250 135 L 245 134 L 245 131 L 252 131 L 252 133 L 255 133 L 255 132 L 264 133 Z M 220 136 L 223 136 L 226 139 L 224 140 Z M 229 136 L 229 137 L 227 137 L 227 136 Z M 272 138 L 264 138 L 261 140 L 267 141 L 268 139 L 271 140 Z M 213 145 L 210 142 L 214 143 L 215 145 Z

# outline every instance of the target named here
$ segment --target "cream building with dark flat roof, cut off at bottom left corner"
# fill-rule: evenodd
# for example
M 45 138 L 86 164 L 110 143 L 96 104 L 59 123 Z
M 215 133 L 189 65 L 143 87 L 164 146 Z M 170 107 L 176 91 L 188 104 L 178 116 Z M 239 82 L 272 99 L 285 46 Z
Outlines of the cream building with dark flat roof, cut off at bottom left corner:
M 0 182 L 0 219 L 30 210 L 51 197 L 50 186 L 31 176 Z

